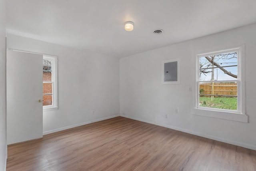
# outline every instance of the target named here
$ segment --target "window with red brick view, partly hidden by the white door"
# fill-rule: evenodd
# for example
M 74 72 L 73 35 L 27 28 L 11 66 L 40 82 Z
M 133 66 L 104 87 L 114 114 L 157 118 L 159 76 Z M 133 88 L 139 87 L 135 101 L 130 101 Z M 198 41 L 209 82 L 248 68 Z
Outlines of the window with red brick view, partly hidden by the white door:
M 43 109 L 58 109 L 57 105 L 57 58 L 43 56 Z

